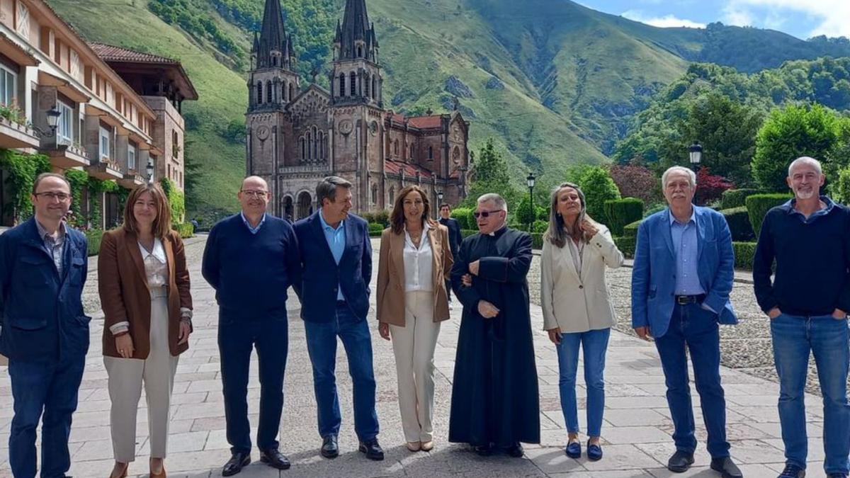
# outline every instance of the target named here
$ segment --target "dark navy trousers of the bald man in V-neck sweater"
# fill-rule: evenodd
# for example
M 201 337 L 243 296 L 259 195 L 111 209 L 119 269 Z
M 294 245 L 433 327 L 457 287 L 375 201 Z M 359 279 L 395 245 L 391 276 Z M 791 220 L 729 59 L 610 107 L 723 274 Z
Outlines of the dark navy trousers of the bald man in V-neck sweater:
M 248 422 L 248 374 L 251 353 L 257 349 L 260 381 L 260 416 L 257 446 L 277 449 L 280 414 L 283 412 L 283 376 L 289 349 L 286 310 L 272 316 L 246 317 L 219 310 L 218 350 L 224 389 L 224 421 L 231 452 L 251 452 Z

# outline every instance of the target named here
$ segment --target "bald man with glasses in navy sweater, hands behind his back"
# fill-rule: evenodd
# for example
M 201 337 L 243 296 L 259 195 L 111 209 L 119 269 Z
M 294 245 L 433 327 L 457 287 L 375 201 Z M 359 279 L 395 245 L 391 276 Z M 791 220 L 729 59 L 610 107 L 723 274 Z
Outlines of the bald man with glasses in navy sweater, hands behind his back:
M 276 439 L 283 411 L 283 375 L 288 350 L 286 289 L 300 282 L 301 262 L 292 226 L 266 213 L 269 186 L 251 176 L 239 191 L 241 213 L 212 227 L 201 272 L 216 290 L 218 350 L 224 385 L 224 418 L 230 457 L 222 475 L 251 463 L 247 386 L 251 351 L 257 349 L 260 461 L 288 469 Z

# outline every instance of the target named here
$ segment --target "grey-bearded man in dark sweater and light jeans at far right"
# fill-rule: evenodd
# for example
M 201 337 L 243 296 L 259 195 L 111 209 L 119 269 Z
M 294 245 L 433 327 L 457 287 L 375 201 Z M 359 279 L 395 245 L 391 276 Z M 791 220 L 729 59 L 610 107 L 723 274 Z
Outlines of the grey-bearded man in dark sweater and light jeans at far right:
M 824 395 L 824 469 L 847 478 L 850 454 L 850 210 L 820 196 L 820 163 L 799 157 L 788 168 L 794 199 L 771 209 L 758 237 L 752 276 L 756 299 L 770 317 L 779 374 L 779 423 L 785 470 L 779 478 L 806 475 L 808 438 L 803 403 L 812 352 Z M 771 282 L 771 266 L 776 276 Z

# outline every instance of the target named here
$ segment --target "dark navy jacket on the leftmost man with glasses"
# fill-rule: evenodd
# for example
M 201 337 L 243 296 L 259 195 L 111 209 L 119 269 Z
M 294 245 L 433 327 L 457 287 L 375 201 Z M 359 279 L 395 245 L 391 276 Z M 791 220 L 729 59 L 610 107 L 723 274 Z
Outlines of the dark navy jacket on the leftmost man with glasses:
M 67 227 L 62 276 L 30 219 L 0 235 L 0 353 L 16 361 L 79 360 L 88 352 L 82 287 L 88 243 Z

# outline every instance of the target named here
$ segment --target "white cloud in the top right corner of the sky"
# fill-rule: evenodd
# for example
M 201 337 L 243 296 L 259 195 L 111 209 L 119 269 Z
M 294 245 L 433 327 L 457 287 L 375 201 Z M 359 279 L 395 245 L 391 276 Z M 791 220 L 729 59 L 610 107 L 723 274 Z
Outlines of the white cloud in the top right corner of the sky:
M 850 37 L 848 0 L 728 0 L 724 12 L 751 12 L 752 8 L 768 10 L 766 25 L 775 24 L 778 16 L 787 19 L 794 14 L 805 14 L 817 23 L 809 36 Z

